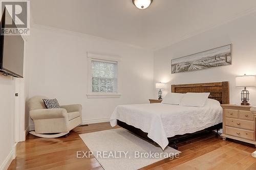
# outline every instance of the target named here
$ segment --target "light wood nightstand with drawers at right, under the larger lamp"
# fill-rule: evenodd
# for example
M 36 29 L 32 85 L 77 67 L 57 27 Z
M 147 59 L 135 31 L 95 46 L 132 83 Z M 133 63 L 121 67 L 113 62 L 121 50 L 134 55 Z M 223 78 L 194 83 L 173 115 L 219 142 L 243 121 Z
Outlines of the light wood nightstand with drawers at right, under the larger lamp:
M 255 144 L 255 116 L 251 113 L 251 106 L 221 105 L 223 108 L 223 140 L 231 138 Z

